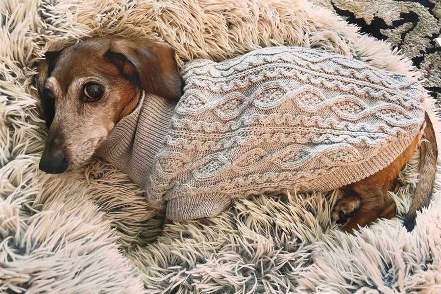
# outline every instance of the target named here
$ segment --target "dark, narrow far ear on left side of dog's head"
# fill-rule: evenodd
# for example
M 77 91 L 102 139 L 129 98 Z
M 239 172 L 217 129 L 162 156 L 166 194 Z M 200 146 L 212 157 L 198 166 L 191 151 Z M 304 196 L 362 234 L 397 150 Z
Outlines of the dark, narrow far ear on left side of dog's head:
M 44 91 L 46 79 L 50 76 L 53 70 L 55 61 L 60 55 L 60 51 L 48 51 L 45 53 L 45 59 L 38 63 L 37 67 L 37 88 L 43 105 L 43 111 L 45 113 L 46 126 L 49 128 L 55 117 L 55 101 L 53 98 L 48 97 Z

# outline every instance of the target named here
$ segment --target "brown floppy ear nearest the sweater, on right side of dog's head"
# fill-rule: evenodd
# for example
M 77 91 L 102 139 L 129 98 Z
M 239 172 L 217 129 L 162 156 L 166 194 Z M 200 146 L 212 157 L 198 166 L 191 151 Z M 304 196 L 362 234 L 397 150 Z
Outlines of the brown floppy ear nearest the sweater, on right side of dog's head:
M 177 101 L 182 95 L 173 48 L 166 43 L 116 39 L 110 42 L 106 57 L 127 79 L 148 93 Z

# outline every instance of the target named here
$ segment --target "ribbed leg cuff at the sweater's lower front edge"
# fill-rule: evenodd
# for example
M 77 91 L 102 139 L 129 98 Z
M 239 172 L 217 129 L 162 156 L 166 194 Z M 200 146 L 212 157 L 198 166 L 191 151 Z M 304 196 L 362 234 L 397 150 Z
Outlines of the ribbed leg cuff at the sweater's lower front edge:
M 231 204 L 231 198 L 222 194 L 180 196 L 167 202 L 166 217 L 172 221 L 214 217 Z

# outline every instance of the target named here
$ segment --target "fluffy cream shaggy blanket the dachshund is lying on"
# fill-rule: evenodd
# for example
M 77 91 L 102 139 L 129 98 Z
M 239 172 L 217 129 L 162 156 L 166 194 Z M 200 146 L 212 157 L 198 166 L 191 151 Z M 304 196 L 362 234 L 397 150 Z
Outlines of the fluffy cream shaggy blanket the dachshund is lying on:
M 147 36 L 169 42 L 182 65 L 290 44 L 419 76 L 388 43 L 300 0 L 6 0 L 0 11 L 0 292 L 441 293 L 441 169 L 414 231 L 402 226 L 418 152 L 391 193 L 397 217 L 354 235 L 330 219 L 337 191 L 255 196 L 162 231 L 162 213 L 105 162 L 63 175 L 38 170 L 47 129 L 34 77 L 46 50 Z

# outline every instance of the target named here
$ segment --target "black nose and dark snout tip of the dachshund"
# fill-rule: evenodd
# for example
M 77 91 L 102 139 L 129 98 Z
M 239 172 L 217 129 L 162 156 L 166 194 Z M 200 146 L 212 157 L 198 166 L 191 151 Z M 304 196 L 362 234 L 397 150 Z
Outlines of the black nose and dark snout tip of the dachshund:
M 38 167 L 47 173 L 62 173 L 67 170 L 68 161 L 59 136 L 49 136 Z

